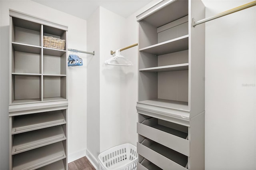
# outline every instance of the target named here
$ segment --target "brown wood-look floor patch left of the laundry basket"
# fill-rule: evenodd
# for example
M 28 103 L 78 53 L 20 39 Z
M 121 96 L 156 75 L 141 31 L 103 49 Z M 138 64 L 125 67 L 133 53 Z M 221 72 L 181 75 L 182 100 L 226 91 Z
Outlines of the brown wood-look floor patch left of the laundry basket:
M 86 156 L 68 163 L 68 170 L 96 170 Z

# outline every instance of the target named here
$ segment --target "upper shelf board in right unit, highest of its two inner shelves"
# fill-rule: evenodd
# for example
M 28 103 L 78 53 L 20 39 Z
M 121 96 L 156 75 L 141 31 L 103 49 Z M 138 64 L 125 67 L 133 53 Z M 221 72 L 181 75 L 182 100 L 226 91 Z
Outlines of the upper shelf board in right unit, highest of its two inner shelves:
M 141 48 L 139 51 L 151 53 L 154 55 L 163 55 L 177 51 L 183 51 L 186 49 L 188 49 L 188 35 L 151 45 L 149 47 Z

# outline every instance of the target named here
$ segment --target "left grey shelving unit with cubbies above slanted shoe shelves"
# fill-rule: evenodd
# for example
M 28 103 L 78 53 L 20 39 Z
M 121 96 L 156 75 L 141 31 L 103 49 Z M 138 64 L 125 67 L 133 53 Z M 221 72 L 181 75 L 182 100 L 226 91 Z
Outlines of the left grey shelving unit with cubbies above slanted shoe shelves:
M 67 169 L 68 27 L 10 10 L 10 170 Z

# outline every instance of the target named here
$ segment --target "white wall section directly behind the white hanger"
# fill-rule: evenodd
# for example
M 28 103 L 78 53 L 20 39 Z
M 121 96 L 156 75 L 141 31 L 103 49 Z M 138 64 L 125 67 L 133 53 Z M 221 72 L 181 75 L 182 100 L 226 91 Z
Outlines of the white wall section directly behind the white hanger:
M 125 66 L 105 65 L 122 48 L 125 18 L 100 7 L 100 152 L 126 141 Z

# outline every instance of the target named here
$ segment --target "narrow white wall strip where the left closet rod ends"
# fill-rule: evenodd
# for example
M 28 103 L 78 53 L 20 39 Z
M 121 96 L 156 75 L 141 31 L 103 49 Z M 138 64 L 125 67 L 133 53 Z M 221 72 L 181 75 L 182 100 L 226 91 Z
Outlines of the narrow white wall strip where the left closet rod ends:
M 100 153 L 100 8 L 87 20 L 87 47 L 95 51 L 87 59 L 87 148 L 86 155 L 96 166 Z

